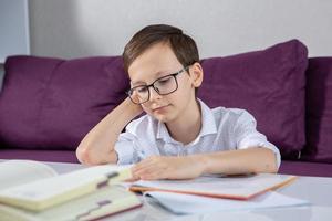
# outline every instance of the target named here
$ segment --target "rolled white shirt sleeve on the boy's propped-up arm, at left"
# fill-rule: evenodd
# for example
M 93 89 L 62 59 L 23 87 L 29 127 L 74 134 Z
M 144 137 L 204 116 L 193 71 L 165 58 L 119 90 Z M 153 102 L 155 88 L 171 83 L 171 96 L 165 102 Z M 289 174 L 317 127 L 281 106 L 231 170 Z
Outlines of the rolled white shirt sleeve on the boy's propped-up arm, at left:
M 122 133 L 115 143 L 114 150 L 117 155 L 117 165 L 128 165 L 139 161 L 137 152 L 137 138 L 131 133 Z

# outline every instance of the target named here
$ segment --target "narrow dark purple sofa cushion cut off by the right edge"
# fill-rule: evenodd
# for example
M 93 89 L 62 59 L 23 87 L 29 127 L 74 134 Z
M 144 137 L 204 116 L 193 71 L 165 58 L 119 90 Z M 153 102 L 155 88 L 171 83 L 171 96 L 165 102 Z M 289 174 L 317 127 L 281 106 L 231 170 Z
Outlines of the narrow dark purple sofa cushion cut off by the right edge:
M 302 158 L 332 162 L 332 57 L 309 60 L 307 145 Z

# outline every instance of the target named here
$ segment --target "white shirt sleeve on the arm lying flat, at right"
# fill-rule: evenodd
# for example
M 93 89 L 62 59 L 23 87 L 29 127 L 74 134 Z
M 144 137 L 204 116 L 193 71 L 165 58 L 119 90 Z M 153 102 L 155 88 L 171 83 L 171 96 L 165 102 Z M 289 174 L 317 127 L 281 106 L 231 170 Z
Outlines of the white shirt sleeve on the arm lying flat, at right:
M 257 131 L 257 123 L 252 115 L 243 110 L 235 125 L 235 135 L 237 139 L 237 148 L 246 149 L 250 147 L 264 147 L 274 152 L 277 168 L 279 169 L 281 157 L 279 149 L 267 140 L 267 137 Z

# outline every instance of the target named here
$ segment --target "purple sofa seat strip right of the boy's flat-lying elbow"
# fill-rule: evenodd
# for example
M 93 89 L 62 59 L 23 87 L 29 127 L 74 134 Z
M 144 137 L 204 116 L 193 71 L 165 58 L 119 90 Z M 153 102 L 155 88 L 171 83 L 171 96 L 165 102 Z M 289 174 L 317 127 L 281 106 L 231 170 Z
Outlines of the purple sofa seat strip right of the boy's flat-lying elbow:
M 282 160 L 279 173 L 332 177 L 332 164 Z

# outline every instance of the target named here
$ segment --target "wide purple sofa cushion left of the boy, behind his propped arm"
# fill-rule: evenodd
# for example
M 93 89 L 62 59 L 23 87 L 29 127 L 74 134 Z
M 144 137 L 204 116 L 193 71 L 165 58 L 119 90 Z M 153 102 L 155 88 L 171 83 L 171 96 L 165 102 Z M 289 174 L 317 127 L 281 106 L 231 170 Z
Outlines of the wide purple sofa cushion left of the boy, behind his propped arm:
M 125 98 L 121 57 L 12 56 L 0 95 L 0 143 L 24 149 L 75 149 Z

